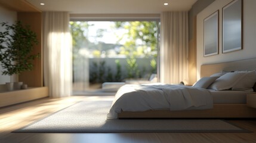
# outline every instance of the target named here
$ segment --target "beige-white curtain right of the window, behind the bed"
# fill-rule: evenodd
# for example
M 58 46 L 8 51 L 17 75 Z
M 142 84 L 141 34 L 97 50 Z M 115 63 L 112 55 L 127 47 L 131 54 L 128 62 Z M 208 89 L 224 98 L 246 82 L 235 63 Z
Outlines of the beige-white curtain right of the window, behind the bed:
M 161 14 L 160 82 L 187 80 L 188 13 Z

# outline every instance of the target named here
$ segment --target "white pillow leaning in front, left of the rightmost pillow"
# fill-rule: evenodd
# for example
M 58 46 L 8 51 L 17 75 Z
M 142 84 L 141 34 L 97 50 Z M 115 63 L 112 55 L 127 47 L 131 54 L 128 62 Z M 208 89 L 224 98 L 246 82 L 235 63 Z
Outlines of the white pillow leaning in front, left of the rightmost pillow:
M 216 79 L 215 82 L 209 86 L 209 88 L 214 89 L 215 91 L 230 89 L 245 75 L 246 73 L 226 73 Z

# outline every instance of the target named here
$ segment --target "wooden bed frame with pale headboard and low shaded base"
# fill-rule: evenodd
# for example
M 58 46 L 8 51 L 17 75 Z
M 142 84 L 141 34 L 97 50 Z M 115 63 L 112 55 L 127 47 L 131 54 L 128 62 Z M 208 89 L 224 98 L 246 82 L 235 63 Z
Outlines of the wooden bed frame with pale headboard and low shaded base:
M 220 71 L 255 70 L 256 58 L 230 61 L 217 64 L 205 64 L 201 66 L 201 77 L 211 76 Z M 165 119 L 165 118 L 256 118 L 256 108 L 246 104 L 214 104 L 208 110 L 150 110 L 150 111 L 122 111 L 119 119 Z

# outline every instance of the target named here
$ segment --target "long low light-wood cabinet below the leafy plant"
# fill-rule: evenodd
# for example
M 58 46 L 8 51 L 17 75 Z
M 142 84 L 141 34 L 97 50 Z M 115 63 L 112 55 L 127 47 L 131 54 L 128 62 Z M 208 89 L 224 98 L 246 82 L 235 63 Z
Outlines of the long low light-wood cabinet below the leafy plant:
M 48 97 L 48 87 L 27 88 L 17 91 L 1 92 L 0 107 Z

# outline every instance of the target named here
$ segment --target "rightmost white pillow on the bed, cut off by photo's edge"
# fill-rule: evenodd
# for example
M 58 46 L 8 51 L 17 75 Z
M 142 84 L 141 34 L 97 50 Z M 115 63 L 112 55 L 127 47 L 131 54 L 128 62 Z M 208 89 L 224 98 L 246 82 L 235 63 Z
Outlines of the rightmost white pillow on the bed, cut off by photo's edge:
M 255 71 L 249 71 L 243 76 L 239 82 L 232 87 L 233 91 L 254 91 L 253 86 L 256 82 L 256 73 Z

